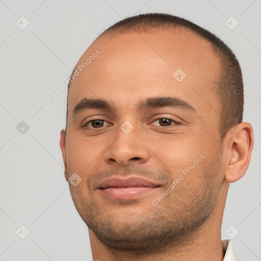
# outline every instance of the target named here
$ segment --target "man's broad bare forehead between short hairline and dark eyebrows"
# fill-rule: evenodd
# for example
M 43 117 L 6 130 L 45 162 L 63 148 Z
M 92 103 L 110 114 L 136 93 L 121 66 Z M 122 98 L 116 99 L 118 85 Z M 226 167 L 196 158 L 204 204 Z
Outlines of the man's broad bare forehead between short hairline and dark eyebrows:
M 99 55 L 93 55 L 97 50 Z M 120 107 L 163 92 L 183 100 L 199 95 L 202 103 L 219 107 L 219 59 L 209 42 L 184 29 L 103 35 L 86 50 L 76 70 L 69 111 L 84 97 L 114 99 Z M 175 75 L 186 77 L 178 82 Z

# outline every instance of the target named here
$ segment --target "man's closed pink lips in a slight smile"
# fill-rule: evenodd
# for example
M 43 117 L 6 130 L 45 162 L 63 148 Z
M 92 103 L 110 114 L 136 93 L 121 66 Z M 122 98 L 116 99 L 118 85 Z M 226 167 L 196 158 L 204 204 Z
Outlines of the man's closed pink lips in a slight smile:
M 97 189 L 106 198 L 115 200 L 130 200 L 146 196 L 162 185 L 156 181 L 141 177 L 113 177 L 102 180 Z

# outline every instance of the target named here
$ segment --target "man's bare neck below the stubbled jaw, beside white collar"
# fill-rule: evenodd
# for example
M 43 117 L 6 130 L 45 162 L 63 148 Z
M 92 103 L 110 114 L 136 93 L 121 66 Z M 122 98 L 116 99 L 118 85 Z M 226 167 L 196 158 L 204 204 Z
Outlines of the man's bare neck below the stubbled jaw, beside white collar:
M 103 245 L 89 228 L 92 256 L 95 261 L 147 261 L 147 260 L 175 260 L 175 261 L 222 261 L 221 225 L 224 205 L 229 184 L 224 181 L 220 190 L 217 204 L 213 213 L 197 229 L 184 234 L 175 242 L 153 253 L 136 253 L 111 249 Z M 156 246 L 155 246 L 156 249 Z

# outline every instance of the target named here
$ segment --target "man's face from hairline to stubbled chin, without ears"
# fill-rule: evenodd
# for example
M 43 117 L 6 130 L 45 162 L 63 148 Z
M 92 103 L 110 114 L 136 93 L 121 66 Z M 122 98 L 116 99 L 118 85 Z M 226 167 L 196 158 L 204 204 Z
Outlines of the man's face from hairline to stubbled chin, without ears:
M 81 177 L 73 202 L 108 247 L 166 246 L 214 210 L 224 171 L 209 45 L 182 29 L 111 34 L 77 64 L 65 175 Z

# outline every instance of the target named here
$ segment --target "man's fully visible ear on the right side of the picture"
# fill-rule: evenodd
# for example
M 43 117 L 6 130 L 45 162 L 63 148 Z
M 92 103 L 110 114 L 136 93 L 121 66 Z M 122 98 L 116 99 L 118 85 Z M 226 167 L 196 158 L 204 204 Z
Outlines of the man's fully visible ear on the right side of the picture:
M 225 180 L 235 182 L 247 171 L 254 145 L 253 128 L 248 122 L 234 126 L 226 139 L 226 171 Z

